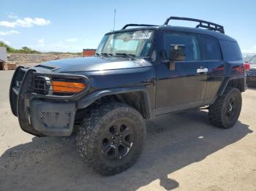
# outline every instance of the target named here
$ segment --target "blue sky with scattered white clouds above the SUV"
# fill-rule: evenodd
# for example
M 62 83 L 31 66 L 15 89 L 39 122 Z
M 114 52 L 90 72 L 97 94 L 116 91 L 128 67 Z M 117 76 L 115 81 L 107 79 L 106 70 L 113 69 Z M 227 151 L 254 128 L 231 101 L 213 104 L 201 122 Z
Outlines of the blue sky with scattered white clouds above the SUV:
M 243 53 L 256 53 L 256 1 L 79 1 L 0 0 L 0 41 L 42 52 L 81 52 L 97 48 L 105 33 L 127 23 L 162 25 L 167 17 L 193 17 L 218 23 Z M 175 26 L 195 23 L 172 22 Z

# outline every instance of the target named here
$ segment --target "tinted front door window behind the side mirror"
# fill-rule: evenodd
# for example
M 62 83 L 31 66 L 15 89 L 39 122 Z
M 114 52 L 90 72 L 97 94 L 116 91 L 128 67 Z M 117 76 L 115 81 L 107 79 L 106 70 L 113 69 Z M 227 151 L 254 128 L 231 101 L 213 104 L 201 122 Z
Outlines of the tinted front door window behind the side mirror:
M 169 60 L 170 45 L 180 44 L 185 46 L 184 61 L 198 61 L 200 60 L 200 49 L 197 41 L 197 36 L 188 34 L 164 34 L 164 48 L 162 51 L 162 58 Z

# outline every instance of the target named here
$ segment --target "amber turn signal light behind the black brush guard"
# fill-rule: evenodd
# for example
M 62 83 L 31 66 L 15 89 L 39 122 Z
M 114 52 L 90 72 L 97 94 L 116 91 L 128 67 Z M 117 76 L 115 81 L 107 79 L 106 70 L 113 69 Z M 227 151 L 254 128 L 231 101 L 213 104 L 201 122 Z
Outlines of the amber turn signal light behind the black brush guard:
M 54 93 L 79 93 L 86 88 L 86 85 L 80 82 L 52 82 Z

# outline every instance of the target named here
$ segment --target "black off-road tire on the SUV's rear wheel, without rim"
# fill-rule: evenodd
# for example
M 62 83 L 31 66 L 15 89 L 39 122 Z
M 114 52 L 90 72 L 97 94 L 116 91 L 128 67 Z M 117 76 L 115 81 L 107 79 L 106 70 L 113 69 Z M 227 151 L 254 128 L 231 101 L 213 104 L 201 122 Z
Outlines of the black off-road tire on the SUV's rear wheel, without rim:
M 236 111 L 232 117 L 226 117 L 227 109 L 230 104 L 230 98 L 236 101 Z M 219 96 L 217 100 L 209 106 L 208 117 L 213 125 L 219 128 L 231 128 L 235 125 L 241 112 L 242 98 L 241 92 L 238 88 L 227 87 L 223 95 Z

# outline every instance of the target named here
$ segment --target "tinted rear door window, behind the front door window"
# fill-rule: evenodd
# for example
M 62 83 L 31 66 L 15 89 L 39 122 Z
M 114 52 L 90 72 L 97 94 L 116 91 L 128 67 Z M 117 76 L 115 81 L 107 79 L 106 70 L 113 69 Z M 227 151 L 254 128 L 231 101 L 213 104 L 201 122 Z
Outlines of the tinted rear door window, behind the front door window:
M 219 42 L 210 36 L 202 36 L 204 60 L 219 61 L 222 60 L 222 55 L 219 50 Z

